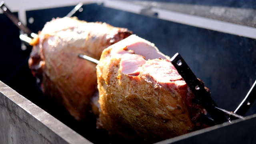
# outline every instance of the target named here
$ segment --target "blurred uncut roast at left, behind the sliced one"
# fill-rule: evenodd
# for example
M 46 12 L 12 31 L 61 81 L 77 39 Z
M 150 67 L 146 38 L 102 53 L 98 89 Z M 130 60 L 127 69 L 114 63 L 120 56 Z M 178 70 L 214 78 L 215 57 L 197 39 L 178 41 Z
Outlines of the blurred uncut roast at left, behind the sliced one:
M 126 28 L 102 22 L 54 18 L 32 40 L 28 64 L 44 95 L 82 120 L 90 110 L 97 78 L 96 64 L 78 58 L 78 54 L 99 59 L 105 48 L 130 35 Z

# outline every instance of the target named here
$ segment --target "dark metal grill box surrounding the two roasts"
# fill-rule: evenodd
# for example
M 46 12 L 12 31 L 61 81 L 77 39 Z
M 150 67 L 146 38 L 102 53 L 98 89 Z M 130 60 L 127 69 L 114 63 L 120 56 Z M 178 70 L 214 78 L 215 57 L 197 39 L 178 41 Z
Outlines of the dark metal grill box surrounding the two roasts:
M 66 16 L 72 8 L 74 6 L 26 11 L 27 26 L 37 33 L 46 22 Z M 253 38 L 171 22 L 156 15 L 146 16 L 108 8 L 101 4 L 84 4 L 82 8 L 82 12 L 74 15 L 80 20 L 125 27 L 153 42 L 168 56 L 176 52 L 182 54 L 196 76 L 211 90 L 212 98 L 220 108 L 234 111 L 256 80 L 256 40 Z M 34 18 L 34 22 L 30 23 L 29 18 Z M 31 48 L 21 50 L 18 28 L 4 14 L 0 14 L 0 19 L 4 20 L 0 26 L 6 28 L 0 36 L 0 143 L 111 143 L 104 140 L 105 135 L 96 136 L 96 132 L 84 136 L 90 132 L 76 131 L 74 125 L 69 125 L 73 122 L 70 118 L 62 117 L 57 110 L 45 106 L 26 63 Z M 66 116 L 65 112 L 62 114 Z M 219 124 L 159 144 L 251 144 L 256 142 L 255 114 L 254 104 L 245 120 Z M 86 130 L 91 128 L 85 127 Z M 93 135 L 95 138 L 91 138 Z

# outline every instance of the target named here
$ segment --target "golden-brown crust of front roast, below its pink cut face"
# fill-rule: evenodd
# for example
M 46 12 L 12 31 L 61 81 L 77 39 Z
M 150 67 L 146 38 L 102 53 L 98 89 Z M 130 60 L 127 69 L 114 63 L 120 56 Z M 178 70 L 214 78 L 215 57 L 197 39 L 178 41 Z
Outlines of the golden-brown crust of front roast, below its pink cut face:
M 110 51 L 110 48 L 104 50 L 97 66 L 98 128 L 147 142 L 158 142 L 196 128 L 196 122 L 192 121 L 196 114 L 190 114 L 186 104 L 190 94 L 186 84 L 163 87 L 147 82 L 150 77 L 147 74 L 123 74 L 119 69 L 120 59 L 111 59 Z

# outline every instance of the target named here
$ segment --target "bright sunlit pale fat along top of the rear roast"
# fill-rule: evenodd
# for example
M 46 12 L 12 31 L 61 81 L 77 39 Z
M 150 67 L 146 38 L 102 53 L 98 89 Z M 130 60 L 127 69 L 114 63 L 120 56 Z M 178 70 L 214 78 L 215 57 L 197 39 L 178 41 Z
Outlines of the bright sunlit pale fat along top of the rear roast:
M 102 34 L 109 33 L 113 28 L 106 23 L 86 22 L 78 20 L 76 17 L 63 17 L 47 22 L 40 35 L 49 35 L 48 44 L 50 46 L 61 44 L 65 47 L 72 44 L 72 46 L 80 48 L 86 45 L 89 33 L 90 40 L 94 40 L 94 38 L 96 40 Z

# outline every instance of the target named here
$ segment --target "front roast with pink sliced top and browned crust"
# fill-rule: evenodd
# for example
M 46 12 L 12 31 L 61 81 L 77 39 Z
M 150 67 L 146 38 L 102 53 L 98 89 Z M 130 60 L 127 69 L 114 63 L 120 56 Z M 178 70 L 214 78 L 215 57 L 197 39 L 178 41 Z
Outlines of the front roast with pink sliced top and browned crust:
M 96 67 L 98 128 L 149 143 L 196 130 L 206 111 L 169 60 L 136 35 L 106 48 Z

